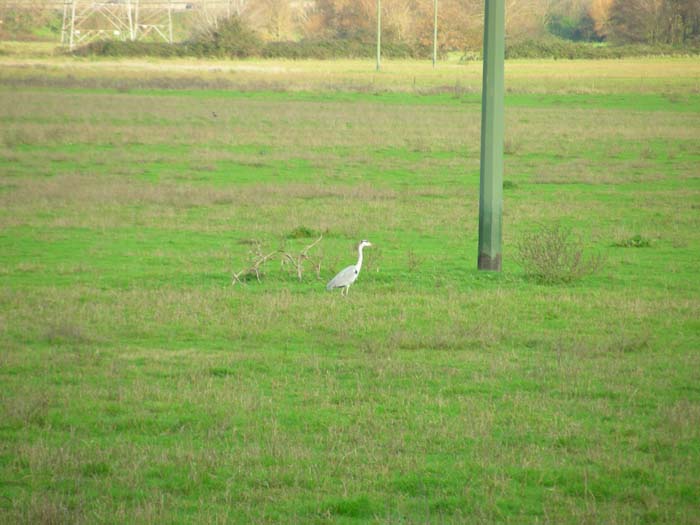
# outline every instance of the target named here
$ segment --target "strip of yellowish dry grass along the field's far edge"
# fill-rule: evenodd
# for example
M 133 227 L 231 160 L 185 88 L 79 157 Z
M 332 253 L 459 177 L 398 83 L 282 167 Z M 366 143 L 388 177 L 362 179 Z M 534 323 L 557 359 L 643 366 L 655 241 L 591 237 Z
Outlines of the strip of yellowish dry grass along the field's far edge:
M 6 85 L 160 89 L 478 92 L 481 64 L 371 60 L 139 60 L 0 57 Z M 694 58 L 510 60 L 508 89 L 528 93 L 687 93 L 697 89 Z

